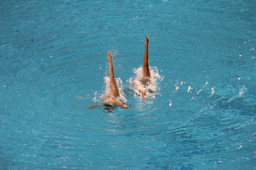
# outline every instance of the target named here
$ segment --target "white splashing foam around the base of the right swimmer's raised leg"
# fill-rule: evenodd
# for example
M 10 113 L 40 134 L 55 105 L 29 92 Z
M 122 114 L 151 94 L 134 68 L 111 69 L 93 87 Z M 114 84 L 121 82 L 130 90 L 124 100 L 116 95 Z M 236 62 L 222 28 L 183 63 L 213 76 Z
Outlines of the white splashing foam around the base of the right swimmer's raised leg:
M 160 79 L 162 81 L 164 78 L 159 75 L 158 69 L 156 67 L 150 67 L 151 82 L 146 88 L 140 82 L 140 80 L 143 78 L 143 67 L 139 67 L 137 69 L 134 68 L 134 73 L 136 74 L 136 76 L 131 77 L 128 80 L 128 82 L 130 82 L 130 89 L 134 90 L 134 94 L 140 94 L 139 90 L 145 89 L 148 97 L 151 96 L 151 98 L 155 98 L 155 92 L 159 90 L 157 89 L 157 80 Z

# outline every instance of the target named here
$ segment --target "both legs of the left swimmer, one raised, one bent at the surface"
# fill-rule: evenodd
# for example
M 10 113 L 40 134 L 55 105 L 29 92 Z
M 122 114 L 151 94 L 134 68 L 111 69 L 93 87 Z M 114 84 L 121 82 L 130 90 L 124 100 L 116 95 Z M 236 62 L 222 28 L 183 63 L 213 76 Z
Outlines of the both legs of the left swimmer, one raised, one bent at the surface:
M 105 97 L 104 101 L 113 104 L 114 106 L 121 106 L 123 108 L 128 108 L 125 102 L 117 100 L 121 96 L 117 82 L 115 81 L 115 71 L 113 66 L 113 58 L 111 51 L 108 51 L 108 61 L 109 61 L 109 79 L 110 79 L 110 96 Z

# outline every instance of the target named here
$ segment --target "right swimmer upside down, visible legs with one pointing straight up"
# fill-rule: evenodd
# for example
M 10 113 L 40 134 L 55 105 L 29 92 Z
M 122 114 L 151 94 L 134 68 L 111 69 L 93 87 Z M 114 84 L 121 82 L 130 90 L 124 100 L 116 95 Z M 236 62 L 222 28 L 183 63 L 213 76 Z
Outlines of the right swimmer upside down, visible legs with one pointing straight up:
M 145 88 L 150 84 L 151 82 L 151 75 L 150 75 L 150 69 L 148 66 L 148 43 L 149 43 L 149 38 L 146 37 L 146 42 L 145 42 L 145 53 L 143 57 L 143 77 L 140 80 L 141 84 L 143 85 L 143 89 L 140 89 L 139 92 L 141 92 L 142 97 L 144 99 L 147 99 L 147 95 L 145 92 Z

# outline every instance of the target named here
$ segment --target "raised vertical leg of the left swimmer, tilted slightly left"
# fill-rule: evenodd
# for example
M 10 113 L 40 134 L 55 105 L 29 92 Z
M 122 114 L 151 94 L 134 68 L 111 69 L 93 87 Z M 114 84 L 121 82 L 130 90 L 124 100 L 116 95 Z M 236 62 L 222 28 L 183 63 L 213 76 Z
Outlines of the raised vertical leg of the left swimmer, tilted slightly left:
M 108 61 L 109 61 L 109 79 L 110 79 L 110 95 L 114 98 L 120 97 L 120 91 L 115 81 L 115 71 L 113 67 L 113 59 L 111 51 L 108 51 Z

